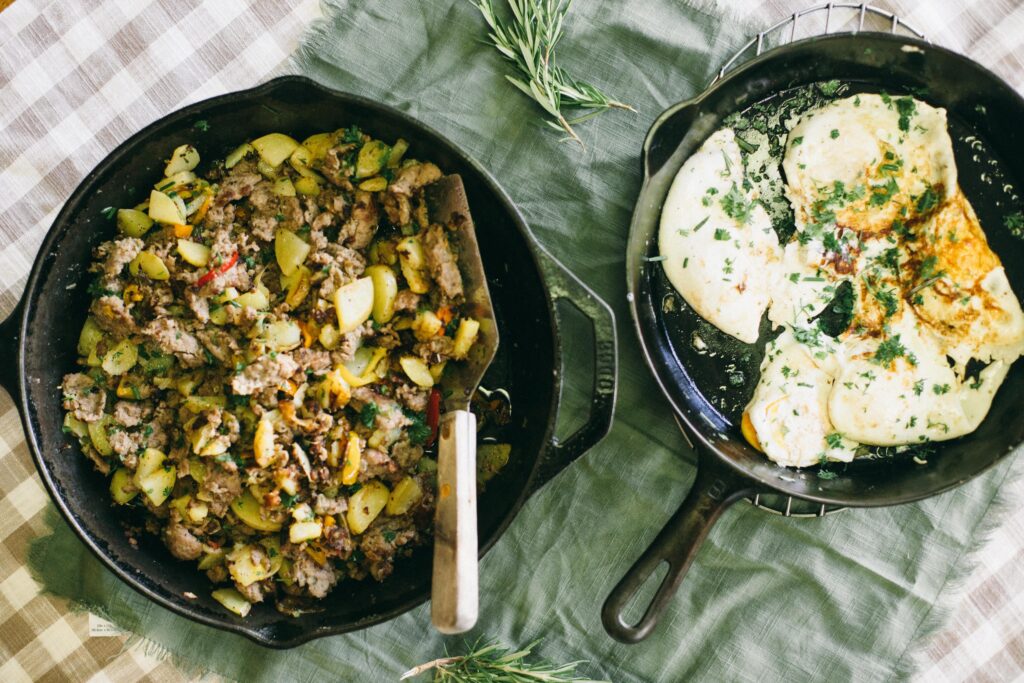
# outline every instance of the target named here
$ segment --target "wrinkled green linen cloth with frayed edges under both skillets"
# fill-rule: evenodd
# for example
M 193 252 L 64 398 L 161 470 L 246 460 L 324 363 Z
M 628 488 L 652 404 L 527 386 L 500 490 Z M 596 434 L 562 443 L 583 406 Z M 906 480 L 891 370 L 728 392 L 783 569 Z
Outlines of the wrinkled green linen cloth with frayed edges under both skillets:
M 911 671 L 913 645 L 995 523 L 1009 465 L 916 505 L 785 519 L 736 505 L 718 523 L 646 641 L 608 638 L 599 610 L 610 588 L 682 500 L 692 454 L 634 343 L 623 253 L 653 118 L 698 92 L 750 27 L 678 0 L 577 2 L 562 63 L 638 110 L 561 141 L 504 79 L 467 0 L 324 4 L 293 70 L 378 98 L 439 129 L 505 186 L 535 234 L 612 303 L 620 399 L 611 435 L 524 506 L 480 565 L 481 609 L 468 634 L 538 651 L 613 681 L 889 680 Z M 481 226 L 486 229 L 486 226 Z M 577 343 L 575 335 L 570 342 Z M 567 354 L 567 422 L 589 378 Z M 183 666 L 239 680 L 385 681 L 461 650 L 424 605 L 390 623 L 274 652 L 157 607 L 122 585 L 54 517 L 33 549 L 48 590 L 93 608 Z M 182 567 L 182 570 L 185 570 Z

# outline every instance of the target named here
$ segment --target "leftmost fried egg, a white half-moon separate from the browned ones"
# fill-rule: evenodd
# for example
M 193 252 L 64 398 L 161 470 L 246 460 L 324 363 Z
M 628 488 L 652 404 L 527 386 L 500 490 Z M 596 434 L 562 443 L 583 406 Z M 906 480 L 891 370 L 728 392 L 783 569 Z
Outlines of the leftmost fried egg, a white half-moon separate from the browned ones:
M 672 286 L 705 319 L 752 344 L 780 259 L 771 219 L 743 188 L 731 129 L 716 132 L 676 175 L 658 249 Z

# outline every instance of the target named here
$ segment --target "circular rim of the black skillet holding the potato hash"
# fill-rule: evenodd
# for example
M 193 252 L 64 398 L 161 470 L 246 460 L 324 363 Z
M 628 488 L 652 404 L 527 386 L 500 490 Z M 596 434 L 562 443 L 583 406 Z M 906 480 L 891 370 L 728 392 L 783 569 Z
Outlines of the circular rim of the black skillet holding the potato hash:
M 361 109 L 362 111 L 371 114 L 385 113 L 396 118 L 397 120 L 400 120 L 408 125 L 410 129 L 425 132 L 429 136 L 432 136 L 436 140 L 440 141 L 443 145 L 446 145 L 453 155 L 465 164 L 467 168 L 476 173 L 477 178 L 482 181 L 482 183 L 495 195 L 502 210 L 509 216 L 511 222 L 515 225 L 519 236 L 525 243 L 526 251 L 529 253 L 529 258 L 532 260 L 534 267 L 540 275 L 542 290 L 547 295 L 545 308 L 548 315 L 549 326 L 552 330 L 551 351 L 554 364 L 553 372 L 555 375 L 555 386 L 551 391 L 551 400 L 547 407 L 547 414 L 549 417 L 541 438 L 542 447 L 534 459 L 529 474 L 523 483 L 522 489 L 511 503 L 509 512 L 505 515 L 505 518 L 502 519 L 501 523 L 495 528 L 490 538 L 483 540 L 482 543 L 479 543 L 478 556 L 483 557 L 483 555 L 485 555 L 487 551 L 489 551 L 490 548 L 498 542 L 498 539 L 508 530 L 508 527 L 511 525 L 515 517 L 518 516 L 523 504 L 535 490 L 535 486 L 540 476 L 539 470 L 542 469 L 543 465 L 550 457 L 549 454 L 552 453 L 553 446 L 557 445 L 553 443 L 553 435 L 555 433 L 557 423 L 558 403 L 561 393 L 560 386 L 562 383 L 563 373 L 561 362 L 561 338 L 558 333 L 559 326 L 556 303 L 555 299 L 552 297 L 548 281 L 545 278 L 546 270 L 541 253 L 543 247 L 537 242 L 537 239 L 529 229 L 529 225 L 526 223 L 525 218 L 522 216 L 522 213 L 519 211 L 518 207 L 512 201 L 505 188 L 498 182 L 497 179 L 494 178 L 494 176 L 492 176 L 489 171 L 487 171 L 475 158 L 465 152 L 462 146 L 456 144 L 451 138 L 440 133 L 432 126 L 422 122 L 410 114 L 401 112 L 397 108 L 362 95 L 326 86 L 307 76 L 287 74 L 264 81 L 263 83 L 258 83 L 251 88 L 225 92 L 201 99 L 181 109 L 169 112 L 159 119 L 154 120 L 111 150 L 103 157 L 103 159 L 101 159 L 92 168 L 92 170 L 90 170 L 89 173 L 79 181 L 75 189 L 71 193 L 71 195 L 69 195 L 68 199 L 65 200 L 60 211 L 53 219 L 46 236 L 40 243 L 39 249 L 36 252 L 35 260 L 33 261 L 32 269 L 29 273 L 29 278 L 26 281 L 25 289 L 23 290 L 17 303 L 9 313 L 8 317 L 0 323 L 0 328 L 3 330 L 9 330 L 12 326 L 14 327 L 14 335 L 16 337 L 14 347 L 16 352 L 12 378 L 13 382 L 8 387 L 8 393 L 11 394 L 11 398 L 18 410 L 18 417 L 25 432 L 26 444 L 29 446 L 29 453 L 32 456 L 33 463 L 36 466 L 40 479 L 42 479 L 49 499 L 53 502 L 63 520 L 75 532 L 75 536 L 78 537 L 85 547 L 88 548 L 89 552 L 91 552 L 106 569 L 146 599 L 193 622 L 203 624 L 204 626 L 209 626 L 220 631 L 244 636 L 258 645 L 273 649 L 292 648 L 318 638 L 359 631 L 378 624 L 389 622 L 411 611 L 412 609 L 415 609 L 429 600 L 429 584 L 423 594 L 414 595 L 408 600 L 398 603 L 388 611 L 374 612 L 366 617 L 349 623 L 330 626 L 313 626 L 308 629 L 296 631 L 294 635 L 291 636 L 281 636 L 274 633 L 281 628 L 281 625 L 292 625 L 293 628 L 296 628 L 297 623 L 290 621 L 287 615 L 282 614 L 280 620 L 264 625 L 262 628 L 252 627 L 248 626 L 243 618 L 236 617 L 227 612 L 220 615 L 219 618 L 218 616 L 211 615 L 206 612 L 199 612 L 184 598 L 178 600 L 177 594 L 168 591 L 168 594 L 174 596 L 175 598 L 172 599 L 157 592 L 148 586 L 143 585 L 136 580 L 130 571 L 122 567 L 119 562 L 109 556 L 102 548 L 92 541 L 92 539 L 81 526 L 78 520 L 78 515 L 72 510 L 63 496 L 60 494 L 59 488 L 49 471 L 49 467 L 46 465 L 41 455 L 39 439 L 35 429 L 33 428 L 31 404 L 28 400 L 28 391 L 26 389 L 28 378 L 25 373 L 25 355 L 29 323 L 33 317 L 33 313 L 35 312 L 35 307 L 40 296 L 38 290 L 43 271 L 46 269 L 44 266 L 50 257 L 51 250 L 55 245 L 60 243 L 65 232 L 69 229 L 68 224 L 76 215 L 77 205 L 82 202 L 83 198 L 87 195 L 87 190 L 91 189 L 91 185 L 97 180 L 97 178 L 106 173 L 111 167 L 113 167 L 134 145 L 141 140 L 159 133 L 167 126 L 177 124 L 181 120 L 201 117 L 207 109 L 228 104 L 231 100 L 257 99 L 259 97 L 267 96 L 276 89 L 295 85 L 311 88 L 317 91 L 318 96 L 326 96 L 335 100 L 343 100 L 347 104 Z M 551 261 L 559 267 L 564 267 L 555 261 L 554 257 L 550 256 L 546 252 L 543 254 L 543 257 L 551 259 Z M 16 396 L 14 395 L 15 392 L 17 394 Z M 41 424 L 40 428 L 44 429 L 45 426 Z

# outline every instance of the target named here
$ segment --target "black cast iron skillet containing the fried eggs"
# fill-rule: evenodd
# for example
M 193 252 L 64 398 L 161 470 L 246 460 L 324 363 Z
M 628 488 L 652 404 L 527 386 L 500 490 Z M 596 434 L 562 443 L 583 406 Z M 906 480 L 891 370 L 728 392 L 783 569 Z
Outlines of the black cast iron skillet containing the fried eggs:
M 851 93 L 910 92 L 948 111 L 961 185 L 1014 291 L 1024 292 L 1024 242 L 1004 226 L 1004 216 L 1021 208 L 1013 187 L 1024 186 L 1024 100 L 970 59 L 883 34 L 813 38 L 766 52 L 695 99 L 665 112 L 644 142 L 644 179 L 630 228 L 627 280 L 640 344 L 684 434 L 696 446 L 698 467 L 679 511 L 604 604 L 604 627 L 623 642 L 651 633 L 711 525 L 738 499 L 774 490 L 845 506 L 908 503 L 964 483 L 1024 439 L 1024 362 L 1018 361 L 978 430 L 937 444 L 926 466 L 908 458 L 855 462 L 833 479 L 818 477 L 817 468 L 778 467 L 750 446 L 738 427 L 759 377 L 767 324 L 756 345 L 730 341 L 674 295 L 657 263 L 644 260 L 656 254 L 662 205 L 673 178 L 726 116 L 791 88 L 830 79 L 849 82 Z M 667 296 L 675 296 L 680 305 L 665 310 Z M 691 343 L 694 332 L 708 345 L 702 353 Z M 737 371 L 745 381 L 734 386 L 730 379 Z M 628 624 L 627 606 L 662 562 L 669 564 L 668 573 L 643 616 Z

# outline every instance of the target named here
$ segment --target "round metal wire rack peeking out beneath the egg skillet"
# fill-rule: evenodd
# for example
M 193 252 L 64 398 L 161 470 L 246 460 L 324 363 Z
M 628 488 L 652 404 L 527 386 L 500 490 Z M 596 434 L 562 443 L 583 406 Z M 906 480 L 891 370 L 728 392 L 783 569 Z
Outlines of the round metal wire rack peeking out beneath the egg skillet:
M 751 38 L 719 69 L 709 85 L 714 85 L 748 59 L 774 47 L 814 36 L 863 31 L 888 32 L 927 40 L 925 34 L 886 9 L 863 2 L 828 2 L 794 12 Z M 685 431 L 683 433 L 685 435 Z M 846 509 L 781 494 L 756 494 L 746 500 L 755 507 L 783 517 L 823 517 Z

